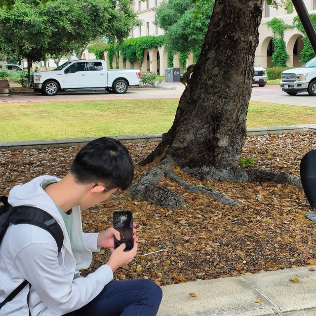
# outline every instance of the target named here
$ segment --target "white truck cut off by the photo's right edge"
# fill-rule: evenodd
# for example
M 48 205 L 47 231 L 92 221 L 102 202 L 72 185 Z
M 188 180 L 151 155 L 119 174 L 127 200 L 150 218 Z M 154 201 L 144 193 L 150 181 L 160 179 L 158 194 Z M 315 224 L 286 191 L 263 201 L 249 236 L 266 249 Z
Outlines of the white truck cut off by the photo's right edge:
M 316 96 L 316 57 L 300 68 L 288 69 L 282 72 L 280 86 L 289 95 L 308 92 Z

